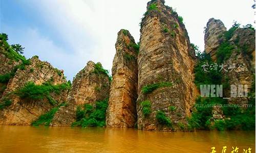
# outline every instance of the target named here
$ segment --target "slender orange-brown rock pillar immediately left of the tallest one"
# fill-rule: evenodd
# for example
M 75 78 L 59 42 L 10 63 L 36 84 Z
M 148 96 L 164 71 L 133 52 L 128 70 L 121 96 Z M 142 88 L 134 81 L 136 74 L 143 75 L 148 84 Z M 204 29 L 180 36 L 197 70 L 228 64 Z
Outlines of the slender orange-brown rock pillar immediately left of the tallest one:
M 113 61 L 108 127 L 133 127 L 137 121 L 136 100 L 138 67 L 136 43 L 126 30 L 118 32 L 116 55 Z

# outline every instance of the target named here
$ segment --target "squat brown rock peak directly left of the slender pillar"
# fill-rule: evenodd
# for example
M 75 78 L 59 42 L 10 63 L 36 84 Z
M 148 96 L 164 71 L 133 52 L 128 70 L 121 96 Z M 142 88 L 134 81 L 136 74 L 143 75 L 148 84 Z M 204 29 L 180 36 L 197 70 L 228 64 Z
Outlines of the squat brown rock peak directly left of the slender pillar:
M 76 107 L 84 104 L 94 105 L 97 100 L 109 97 L 110 80 L 100 63 L 92 61 L 80 70 L 73 80 L 67 98 L 68 106 L 62 106 L 55 114 L 54 126 L 70 126 L 76 119 Z

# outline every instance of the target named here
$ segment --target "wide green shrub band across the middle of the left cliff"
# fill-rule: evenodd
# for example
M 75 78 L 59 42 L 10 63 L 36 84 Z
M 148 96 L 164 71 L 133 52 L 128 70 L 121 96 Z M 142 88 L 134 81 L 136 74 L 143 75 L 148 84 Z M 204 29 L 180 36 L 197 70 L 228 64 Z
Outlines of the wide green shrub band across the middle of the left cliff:
M 59 85 L 53 85 L 50 81 L 43 83 L 42 85 L 35 85 L 33 82 L 28 82 L 24 87 L 14 91 L 14 94 L 20 98 L 27 98 L 32 100 L 42 100 L 47 98 L 49 103 L 56 104 L 56 101 L 51 97 L 51 93 L 60 94 L 63 90 L 71 88 L 70 82 Z

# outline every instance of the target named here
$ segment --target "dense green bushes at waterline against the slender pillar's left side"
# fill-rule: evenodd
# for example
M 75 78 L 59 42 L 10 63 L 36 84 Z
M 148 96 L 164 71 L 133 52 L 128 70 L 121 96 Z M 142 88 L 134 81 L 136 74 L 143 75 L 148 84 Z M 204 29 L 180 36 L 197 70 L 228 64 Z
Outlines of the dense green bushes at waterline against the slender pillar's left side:
M 108 108 L 108 98 L 96 101 L 95 107 L 90 104 L 78 106 L 76 109 L 76 122 L 72 126 L 105 126 L 105 112 Z

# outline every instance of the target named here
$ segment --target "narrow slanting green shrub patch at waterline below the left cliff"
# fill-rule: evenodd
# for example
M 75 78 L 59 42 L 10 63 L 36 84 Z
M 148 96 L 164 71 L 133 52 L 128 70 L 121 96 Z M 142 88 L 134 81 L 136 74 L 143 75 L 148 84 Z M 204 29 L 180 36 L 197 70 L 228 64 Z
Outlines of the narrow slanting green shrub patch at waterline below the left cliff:
M 49 112 L 46 114 L 43 114 L 39 116 L 39 118 L 35 121 L 32 122 L 33 126 L 39 126 L 39 125 L 45 125 L 49 126 L 50 123 L 52 122 L 52 119 L 54 117 L 54 114 L 59 110 L 59 106 L 51 109 Z

